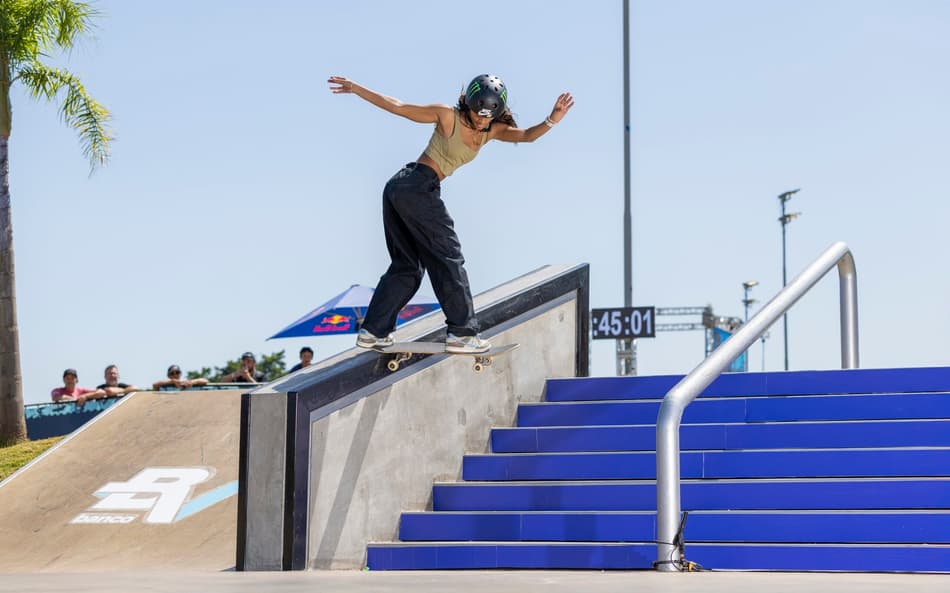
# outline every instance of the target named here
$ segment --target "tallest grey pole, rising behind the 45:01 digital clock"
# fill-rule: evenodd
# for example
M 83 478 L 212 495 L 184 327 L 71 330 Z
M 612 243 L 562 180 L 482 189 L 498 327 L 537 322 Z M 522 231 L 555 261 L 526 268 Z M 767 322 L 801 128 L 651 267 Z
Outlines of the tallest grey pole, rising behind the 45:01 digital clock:
M 633 306 L 633 224 L 630 214 L 630 0 L 623 1 L 623 305 Z M 637 374 L 637 341 L 617 340 L 617 374 Z

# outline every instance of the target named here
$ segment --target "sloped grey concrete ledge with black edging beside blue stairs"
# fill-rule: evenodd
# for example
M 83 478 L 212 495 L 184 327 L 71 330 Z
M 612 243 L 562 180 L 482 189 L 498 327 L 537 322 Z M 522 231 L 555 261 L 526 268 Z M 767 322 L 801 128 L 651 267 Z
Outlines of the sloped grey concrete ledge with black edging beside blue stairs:
M 426 508 L 433 479 L 456 477 L 545 379 L 588 374 L 588 278 L 586 264 L 547 266 L 478 295 L 483 334 L 521 344 L 480 375 L 445 355 L 390 373 L 354 349 L 245 394 L 238 569 L 361 567 L 366 544 L 394 539 L 399 513 Z M 444 335 L 435 313 L 397 339 Z

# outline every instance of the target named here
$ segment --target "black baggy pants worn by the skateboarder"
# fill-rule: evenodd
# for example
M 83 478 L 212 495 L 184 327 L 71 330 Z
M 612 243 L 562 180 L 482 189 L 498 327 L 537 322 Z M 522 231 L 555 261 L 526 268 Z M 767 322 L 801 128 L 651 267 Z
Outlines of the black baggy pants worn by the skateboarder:
M 392 263 L 379 279 L 363 320 L 363 328 L 375 336 L 395 329 L 396 316 L 419 290 L 426 270 L 448 331 L 457 336 L 478 333 L 462 246 L 441 191 L 436 172 L 420 163 L 409 163 L 386 183 L 383 228 Z

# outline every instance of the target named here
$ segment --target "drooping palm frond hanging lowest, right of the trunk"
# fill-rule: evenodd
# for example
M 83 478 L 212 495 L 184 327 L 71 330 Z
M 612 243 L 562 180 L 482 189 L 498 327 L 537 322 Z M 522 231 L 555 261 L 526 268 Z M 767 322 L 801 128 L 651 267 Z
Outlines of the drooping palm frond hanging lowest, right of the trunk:
M 79 78 L 66 70 L 33 62 L 20 68 L 19 79 L 34 98 L 52 101 L 64 91 L 59 112 L 63 121 L 79 133 L 83 156 L 89 159 L 93 170 L 106 164 L 113 140 L 108 125 L 111 115 L 86 92 Z

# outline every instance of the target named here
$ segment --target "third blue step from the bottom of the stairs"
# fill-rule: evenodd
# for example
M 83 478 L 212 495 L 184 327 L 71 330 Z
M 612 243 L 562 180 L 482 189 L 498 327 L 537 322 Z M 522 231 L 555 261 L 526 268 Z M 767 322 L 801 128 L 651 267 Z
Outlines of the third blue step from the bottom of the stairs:
M 947 509 L 950 480 L 683 480 L 683 510 Z M 656 483 L 436 483 L 434 511 L 655 511 Z

